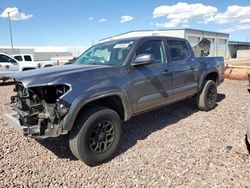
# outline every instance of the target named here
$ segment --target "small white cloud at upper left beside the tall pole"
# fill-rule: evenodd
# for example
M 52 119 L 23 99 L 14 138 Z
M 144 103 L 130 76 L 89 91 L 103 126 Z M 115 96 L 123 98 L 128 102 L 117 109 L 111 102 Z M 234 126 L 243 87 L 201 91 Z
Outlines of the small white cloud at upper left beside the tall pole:
M 31 17 L 33 17 L 32 14 L 26 15 L 25 13 L 21 12 L 20 10 L 18 10 L 18 8 L 16 7 L 9 7 L 6 8 L 2 14 L 0 15 L 0 17 L 2 18 L 8 18 L 8 13 L 10 16 L 11 20 L 27 20 Z

